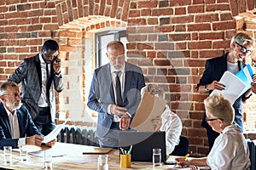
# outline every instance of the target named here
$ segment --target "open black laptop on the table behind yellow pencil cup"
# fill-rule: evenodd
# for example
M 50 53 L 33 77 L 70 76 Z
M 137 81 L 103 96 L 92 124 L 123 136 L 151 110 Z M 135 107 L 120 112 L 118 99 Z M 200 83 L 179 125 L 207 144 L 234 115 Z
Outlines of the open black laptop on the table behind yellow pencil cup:
M 154 148 L 161 149 L 161 161 L 166 161 L 166 132 L 120 131 L 119 147 L 131 150 L 131 161 L 152 161 Z

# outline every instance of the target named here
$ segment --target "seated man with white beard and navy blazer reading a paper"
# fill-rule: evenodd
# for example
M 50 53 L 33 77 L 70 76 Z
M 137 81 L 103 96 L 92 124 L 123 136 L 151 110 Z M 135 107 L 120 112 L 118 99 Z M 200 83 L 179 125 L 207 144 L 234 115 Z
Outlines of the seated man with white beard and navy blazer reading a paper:
M 24 105 L 20 103 L 20 90 L 15 82 L 3 82 L 0 86 L 0 149 L 20 144 L 40 146 L 44 135 L 32 122 L 32 118 Z M 52 146 L 55 140 L 46 145 Z

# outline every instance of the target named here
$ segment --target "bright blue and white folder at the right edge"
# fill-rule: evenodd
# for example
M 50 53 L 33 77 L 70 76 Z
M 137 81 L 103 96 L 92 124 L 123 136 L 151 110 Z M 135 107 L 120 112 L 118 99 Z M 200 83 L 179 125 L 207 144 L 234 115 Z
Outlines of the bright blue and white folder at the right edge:
M 253 74 L 254 73 L 251 65 L 245 66 L 241 71 L 236 73 L 236 77 L 238 77 L 241 82 L 246 84 L 246 88 L 244 88 L 241 94 L 244 94 L 249 88 L 251 88 L 251 82 L 253 82 Z

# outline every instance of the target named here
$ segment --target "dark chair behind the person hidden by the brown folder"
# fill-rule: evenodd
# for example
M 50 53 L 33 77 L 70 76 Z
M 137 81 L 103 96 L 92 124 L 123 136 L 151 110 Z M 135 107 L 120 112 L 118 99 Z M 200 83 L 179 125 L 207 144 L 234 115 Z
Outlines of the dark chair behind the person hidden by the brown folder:
M 184 136 L 179 137 L 179 144 L 177 144 L 170 154 L 170 156 L 185 156 L 189 153 L 189 139 Z

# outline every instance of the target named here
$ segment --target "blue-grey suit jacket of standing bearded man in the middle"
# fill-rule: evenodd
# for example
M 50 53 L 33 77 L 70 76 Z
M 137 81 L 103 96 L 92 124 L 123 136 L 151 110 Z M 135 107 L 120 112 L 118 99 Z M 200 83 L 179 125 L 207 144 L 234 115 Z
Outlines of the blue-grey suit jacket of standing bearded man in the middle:
M 124 107 L 132 118 L 141 101 L 141 88 L 145 86 L 143 71 L 136 65 L 125 62 L 125 89 L 123 94 Z M 105 136 L 113 122 L 113 115 L 108 114 L 108 105 L 113 105 L 113 83 L 110 64 L 102 65 L 94 71 L 88 97 L 88 107 L 98 112 L 96 136 Z

